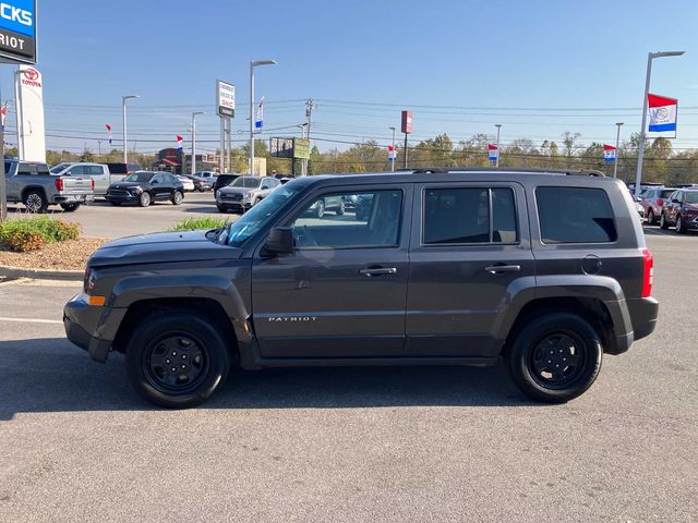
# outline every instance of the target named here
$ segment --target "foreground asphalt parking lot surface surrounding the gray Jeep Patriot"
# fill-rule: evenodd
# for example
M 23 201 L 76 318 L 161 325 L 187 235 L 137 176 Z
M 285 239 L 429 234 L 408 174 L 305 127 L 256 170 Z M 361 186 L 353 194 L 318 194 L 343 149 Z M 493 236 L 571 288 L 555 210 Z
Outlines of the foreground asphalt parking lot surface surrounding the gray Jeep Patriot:
M 502 367 L 396 367 L 237 373 L 163 411 L 64 339 L 77 284 L 2 283 L 0 521 L 696 521 L 698 234 L 648 244 L 658 330 L 557 406 Z

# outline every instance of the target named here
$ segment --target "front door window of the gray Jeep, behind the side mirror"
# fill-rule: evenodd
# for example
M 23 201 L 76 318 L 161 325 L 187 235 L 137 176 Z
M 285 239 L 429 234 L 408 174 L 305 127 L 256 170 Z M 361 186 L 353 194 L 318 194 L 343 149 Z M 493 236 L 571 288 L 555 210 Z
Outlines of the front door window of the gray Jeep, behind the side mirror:
M 275 195 L 285 188 L 276 190 Z M 264 202 L 266 202 L 265 198 Z M 357 211 L 356 202 L 371 202 L 370 211 Z M 305 206 L 292 221 L 299 248 L 384 247 L 398 244 L 401 191 L 325 194 Z

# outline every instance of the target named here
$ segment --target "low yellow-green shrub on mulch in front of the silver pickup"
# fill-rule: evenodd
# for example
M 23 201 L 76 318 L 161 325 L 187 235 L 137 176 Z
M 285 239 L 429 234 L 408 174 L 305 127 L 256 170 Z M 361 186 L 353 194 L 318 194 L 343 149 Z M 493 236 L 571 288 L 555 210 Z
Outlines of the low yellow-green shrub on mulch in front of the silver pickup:
M 79 224 L 48 216 L 17 218 L 0 223 L 0 242 L 17 252 L 40 248 L 46 243 L 77 240 L 79 236 Z

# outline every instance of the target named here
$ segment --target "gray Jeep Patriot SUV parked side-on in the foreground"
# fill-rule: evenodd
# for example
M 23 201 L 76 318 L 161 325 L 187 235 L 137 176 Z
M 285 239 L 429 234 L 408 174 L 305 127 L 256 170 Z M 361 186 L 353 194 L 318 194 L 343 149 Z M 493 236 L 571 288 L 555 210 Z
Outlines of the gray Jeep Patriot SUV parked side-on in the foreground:
M 323 198 L 361 214 L 313 212 Z M 232 366 L 496 364 L 565 402 L 654 330 L 635 204 L 598 172 L 418 170 L 290 181 L 217 230 L 117 240 L 64 309 L 98 362 L 186 408 Z

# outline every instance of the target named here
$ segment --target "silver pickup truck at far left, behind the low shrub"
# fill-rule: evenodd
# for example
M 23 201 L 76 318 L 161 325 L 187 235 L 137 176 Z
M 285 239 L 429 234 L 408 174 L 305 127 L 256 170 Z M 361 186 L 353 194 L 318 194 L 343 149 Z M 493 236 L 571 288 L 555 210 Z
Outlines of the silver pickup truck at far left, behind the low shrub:
M 51 174 L 46 163 L 4 160 L 9 203 L 22 203 L 31 212 L 45 212 L 49 205 L 65 211 L 94 199 L 94 181 L 89 177 Z

